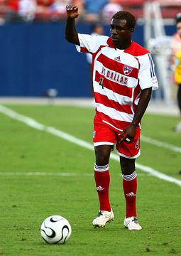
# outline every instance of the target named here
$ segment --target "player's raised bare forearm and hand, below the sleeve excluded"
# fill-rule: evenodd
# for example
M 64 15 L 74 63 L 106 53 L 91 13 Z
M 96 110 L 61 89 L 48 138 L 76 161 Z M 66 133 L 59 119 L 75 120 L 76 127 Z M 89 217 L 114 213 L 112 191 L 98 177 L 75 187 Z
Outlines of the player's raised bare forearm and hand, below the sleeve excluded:
M 79 16 L 78 7 L 73 5 L 66 6 L 67 22 L 65 25 L 65 38 L 68 42 L 79 46 L 79 37 L 75 28 L 75 18 Z

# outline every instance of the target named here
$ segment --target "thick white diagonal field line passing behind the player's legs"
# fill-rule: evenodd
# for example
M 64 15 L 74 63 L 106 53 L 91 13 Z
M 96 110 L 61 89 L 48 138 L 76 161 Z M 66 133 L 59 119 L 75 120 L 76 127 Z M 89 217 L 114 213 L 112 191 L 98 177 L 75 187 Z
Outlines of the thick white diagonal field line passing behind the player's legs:
M 13 110 L 10 110 L 7 107 L 4 107 L 0 105 L 0 112 L 3 114 L 6 114 L 6 116 L 11 117 L 13 119 L 16 119 L 20 122 L 23 122 L 24 124 L 27 124 L 30 127 L 33 127 L 34 129 L 38 129 L 40 131 L 45 131 L 50 134 L 53 134 L 57 137 L 60 137 L 62 139 L 67 140 L 68 142 L 77 144 L 79 146 L 82 146 L 86 149 L 90 149 L 94 151 L 94 148 L 92 144 L 88 142 L 84 142 L 82 139 L 77 139 L 76 137 L 67 134 L 65 132 L 62 132 L 58 129 L 55 129 L 54 127 L 47 127 L 44 124 L 40 124 L 39 122 L 35 121 L 35 119 L 32 119 L 30 117 L 23 116 L 22 114 L 18 114 L 17 112 L 14 112 Z M 114 159 L 116 161 L 119 161 L 119 156 L 116 154 L 111 154 L 111 159 Z M 172 178 L 166 174 L 162 174 L 159 171 L 156 171 L 155 169 L 150 168 L 149 166 L 143 166 L 142 164 L 136 164 L 136 168 L 140 169 L 141 171 L 145 171 L 146 173 L 155 176 L 157 178 L 163 179 L 165 181 L 169 181 L 172 183 L 176 183 L 178 186 L 181 186 L 181 180 L 177 178 Z

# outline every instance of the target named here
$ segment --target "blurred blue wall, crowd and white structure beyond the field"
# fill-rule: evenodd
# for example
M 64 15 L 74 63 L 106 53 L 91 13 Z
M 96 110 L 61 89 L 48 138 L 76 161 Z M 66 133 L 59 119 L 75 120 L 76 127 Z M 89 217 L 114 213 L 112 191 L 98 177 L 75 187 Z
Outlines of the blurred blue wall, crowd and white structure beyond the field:
M 80 33 L 91 33 L 92 24 L 101 21 L 109 35 L 111 16 L 131 11 L 138 20 L 133 40 L 153 53 L 156 64 L 160 88 L 152 102 L 176 105 L 171 46 L 180 0 L 0 0 L 1 100 L 43 99 L 49 92 L 58 98 L 92 97 L 86 56 L 65 41 L 67 4 L 79 6 Z

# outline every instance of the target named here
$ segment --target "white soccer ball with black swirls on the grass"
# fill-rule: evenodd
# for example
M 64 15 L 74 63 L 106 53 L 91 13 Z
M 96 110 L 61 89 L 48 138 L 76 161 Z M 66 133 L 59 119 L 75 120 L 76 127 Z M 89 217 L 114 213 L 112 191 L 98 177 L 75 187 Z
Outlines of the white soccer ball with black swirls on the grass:
M 69 240 L 71 233 L 70 223 L 59 215 L 46 218 L 40 227 L 42 238 L 49 244 L 64 244 Z

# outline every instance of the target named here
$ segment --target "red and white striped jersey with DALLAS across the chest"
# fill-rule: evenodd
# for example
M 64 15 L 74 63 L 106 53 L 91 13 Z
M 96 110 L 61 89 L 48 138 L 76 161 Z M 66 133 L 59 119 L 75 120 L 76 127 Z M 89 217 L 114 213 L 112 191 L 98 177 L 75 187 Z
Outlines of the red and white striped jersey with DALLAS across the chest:
M 141 90 L 158 88 L 150 52 L 132 42 L 115 48 L 107 36 L 79 34 L 82 53 L 92 53 L 96 110 L 102 122 L 122 130 L 133 120 Z

